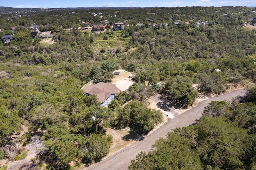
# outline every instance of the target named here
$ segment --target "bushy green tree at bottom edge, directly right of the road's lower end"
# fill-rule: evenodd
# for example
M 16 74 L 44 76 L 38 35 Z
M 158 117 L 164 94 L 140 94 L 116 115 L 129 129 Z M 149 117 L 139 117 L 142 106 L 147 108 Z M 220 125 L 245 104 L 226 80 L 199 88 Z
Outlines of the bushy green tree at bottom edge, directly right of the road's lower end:
M 148 155 L 141 152 L 131 161 L 129 170 L 190 169 L 203 170 L 204 167 L 196 151 L 191 149 L 185 137 L 168 133 L 166 139 L 158 139 Z

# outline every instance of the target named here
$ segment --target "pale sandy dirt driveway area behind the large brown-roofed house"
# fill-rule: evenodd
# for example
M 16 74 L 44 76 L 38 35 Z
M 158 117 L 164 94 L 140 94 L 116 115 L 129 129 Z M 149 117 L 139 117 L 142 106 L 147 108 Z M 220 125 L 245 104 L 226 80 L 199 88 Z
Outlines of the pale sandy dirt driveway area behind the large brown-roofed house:
M 114 70 L 113 73 L 114 72 L 120 72 L 120 74 L 114 76 L 111 83 L 116 84 L 116 87 L 118 87 L 120 90 L 128 90 L 129 86 L 134 83 L 132 79 L 129 78 L 131 72 L 126 70 Z

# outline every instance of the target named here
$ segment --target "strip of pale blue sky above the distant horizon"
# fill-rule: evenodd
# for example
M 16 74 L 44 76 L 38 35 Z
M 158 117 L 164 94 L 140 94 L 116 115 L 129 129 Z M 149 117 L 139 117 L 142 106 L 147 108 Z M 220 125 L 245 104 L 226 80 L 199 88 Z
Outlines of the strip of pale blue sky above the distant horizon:
M 13 8 L 67 8 L 67 7 L 177 7 L 177 6 L 248 6 L 256 0 L 0 0 L 0 6 Z

